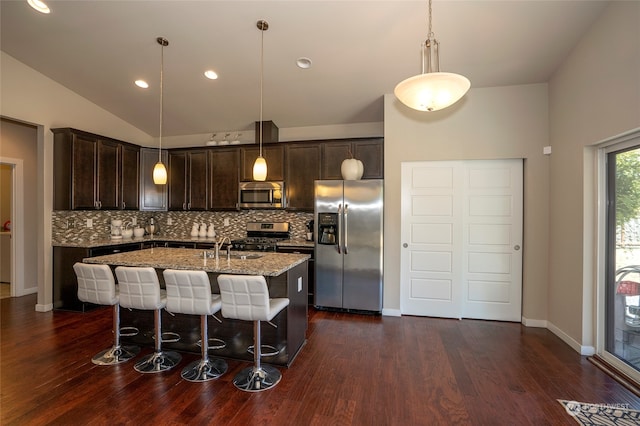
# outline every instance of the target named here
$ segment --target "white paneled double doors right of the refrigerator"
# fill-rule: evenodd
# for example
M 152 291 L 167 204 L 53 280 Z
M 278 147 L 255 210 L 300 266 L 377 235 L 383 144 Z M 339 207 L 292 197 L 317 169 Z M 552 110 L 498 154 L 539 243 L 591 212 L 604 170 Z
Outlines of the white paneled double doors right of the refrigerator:
M 522 320 L 522 160 L 402 164 L 401 311 Z

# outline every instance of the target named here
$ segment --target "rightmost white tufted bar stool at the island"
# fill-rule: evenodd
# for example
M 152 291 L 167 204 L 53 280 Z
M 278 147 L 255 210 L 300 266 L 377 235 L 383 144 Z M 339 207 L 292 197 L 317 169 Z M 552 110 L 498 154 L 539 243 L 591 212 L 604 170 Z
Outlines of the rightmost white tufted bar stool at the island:
M 278 384 L 282 374 L 270 365 L 262 365 L 260 321 L 271 321 L 289 305 L 287 298 L 269 298 L 267 281 L 261 275 L 219 275 L 222 315 L 253 321 L 253 366 L 240 371 L 233 384 L 246 392 L 260 392 Z

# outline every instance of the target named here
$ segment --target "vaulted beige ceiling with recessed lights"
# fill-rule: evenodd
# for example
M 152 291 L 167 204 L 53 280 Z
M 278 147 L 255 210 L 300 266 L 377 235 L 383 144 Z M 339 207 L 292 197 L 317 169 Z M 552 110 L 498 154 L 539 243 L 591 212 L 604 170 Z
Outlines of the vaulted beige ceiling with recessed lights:
M 0 2 L 1 49 L 152 136 L 160 45 L 166 136 L 383 121 L 383 95 L 421 70 L 427 1 Z M 434 0 L 442 71 L 472 88 L 547 82 L 606 1 Z M 296 66 L 299 57 L 312 61 Z M 214 69 L 219 78 L 203 72 Z M 146 90 L 133 82 L 143 78 Z M 1 95 L 0 95 L 1 96 Z

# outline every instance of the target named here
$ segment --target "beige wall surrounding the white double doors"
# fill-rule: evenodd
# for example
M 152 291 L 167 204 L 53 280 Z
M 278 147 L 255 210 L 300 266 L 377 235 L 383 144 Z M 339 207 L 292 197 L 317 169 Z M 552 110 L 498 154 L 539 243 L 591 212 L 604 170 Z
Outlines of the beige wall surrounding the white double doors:
M 523 316 L 547 318 L 547 104 L 546 84 L 471 89 L 432 113 L 385 96 L 385 310 L 400 309 L 400 164 L 524 158 Z

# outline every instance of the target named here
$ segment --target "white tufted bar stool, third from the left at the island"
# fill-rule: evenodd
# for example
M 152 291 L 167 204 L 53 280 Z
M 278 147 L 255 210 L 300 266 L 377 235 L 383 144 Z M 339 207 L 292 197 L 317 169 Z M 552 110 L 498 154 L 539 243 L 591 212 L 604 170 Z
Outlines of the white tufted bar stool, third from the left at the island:
M 200 315 L 202 358 L 187 365 L 182 370 L 182 378 L 190 382 L 217 379 L 227 372 L 228 367 L 221 358 L 209 358 L 207 319 L 209 315 L 214 315 L 222 308 L 220 295 L 211 293 L 211 282 L 204 271 L 165 269 L 163 274 L 167 288 L 167 311 L 175 314 Z M 215 340 L 220 341 L 220 339 Z M 224 348 L 224 342 L 222 343 L 216 348 Z

